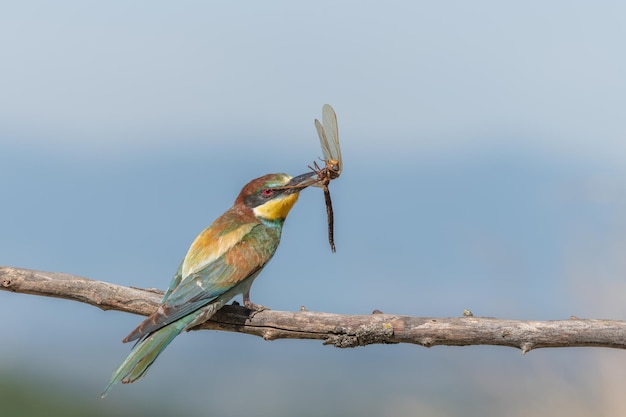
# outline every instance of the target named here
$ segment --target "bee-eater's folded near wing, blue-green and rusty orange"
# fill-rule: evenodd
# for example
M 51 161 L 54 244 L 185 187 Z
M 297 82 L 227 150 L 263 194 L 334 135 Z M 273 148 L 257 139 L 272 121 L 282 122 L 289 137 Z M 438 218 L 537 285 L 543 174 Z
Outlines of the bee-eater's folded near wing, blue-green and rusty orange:
M 163 304 L 126 338 L 139 339 L 194 311 L 215 302 L 220 296 L 256 274 L 272 258 L 280 240 L 280 231 L 255 224 L 249 232 L 219 257 L 197 272 L 174 278 Z

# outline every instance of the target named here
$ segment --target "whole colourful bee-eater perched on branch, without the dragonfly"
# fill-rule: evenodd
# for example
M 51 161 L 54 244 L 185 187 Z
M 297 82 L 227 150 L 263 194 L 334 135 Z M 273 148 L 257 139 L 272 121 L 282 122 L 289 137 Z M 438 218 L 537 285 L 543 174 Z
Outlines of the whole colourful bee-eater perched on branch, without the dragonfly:
M 196 237 L 163 296 L 161 306 L 123 340 L 137 340 L 102 393 L 113 384 L 135 382 L 183 330 L 213 316 L 243 294 L 250 309 L 250 286 L 274 255 L 283 223 L 300 191 L 317 182 L 314 172 L 297 177 L 268 174 L 250 181 L 235 204 Z

